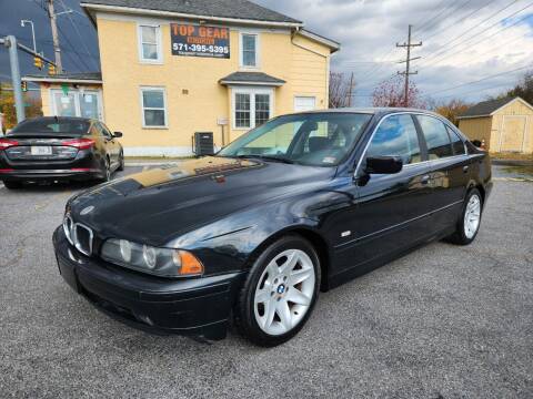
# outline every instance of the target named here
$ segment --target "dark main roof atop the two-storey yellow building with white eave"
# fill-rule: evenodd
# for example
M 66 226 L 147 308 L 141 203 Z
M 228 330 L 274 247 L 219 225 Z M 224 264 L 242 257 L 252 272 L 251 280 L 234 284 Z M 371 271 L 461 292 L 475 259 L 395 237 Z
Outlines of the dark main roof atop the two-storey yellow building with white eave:
M 203 19 L 248 20 L 302 25 L 302 22 L 248 0 L 87 0 L 86 9 L 168 13 Z

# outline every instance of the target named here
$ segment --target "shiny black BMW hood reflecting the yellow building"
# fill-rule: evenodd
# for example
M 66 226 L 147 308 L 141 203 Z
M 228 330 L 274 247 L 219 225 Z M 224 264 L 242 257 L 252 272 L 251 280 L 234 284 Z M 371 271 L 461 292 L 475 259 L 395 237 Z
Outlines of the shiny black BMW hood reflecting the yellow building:
M 232 213 L 312 190 L 334 172 L 211 156 L 129 175 L 73 197 L 68 207 L 77 222 L 103 238 L 163 246 Z M 217 233 L 243 227 L 230 225 Z

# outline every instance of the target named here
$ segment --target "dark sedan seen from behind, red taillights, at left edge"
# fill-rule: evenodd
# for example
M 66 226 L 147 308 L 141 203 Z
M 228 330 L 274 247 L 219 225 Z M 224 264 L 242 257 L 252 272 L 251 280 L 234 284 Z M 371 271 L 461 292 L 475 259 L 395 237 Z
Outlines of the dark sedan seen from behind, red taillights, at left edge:
M 124 167 L 121 136 L 97 120 L 26 120 L 0 136 L 0 180 L 8 188 L 27 181 L 109 181 Z

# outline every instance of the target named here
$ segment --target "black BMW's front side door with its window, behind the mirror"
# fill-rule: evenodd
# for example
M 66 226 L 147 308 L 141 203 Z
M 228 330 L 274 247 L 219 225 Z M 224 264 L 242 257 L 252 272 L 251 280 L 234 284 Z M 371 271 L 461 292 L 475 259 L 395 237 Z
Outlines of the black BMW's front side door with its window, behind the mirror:
M 372 265 L 431 235 L 430 165 L 414 120 L 409 113 L 384 116 L 356 170 L 355 206 L 345 215 L 350 236 L 339 246 L 344 267 Z M 401 156 L 396 174 L 368 174 L 371 156 Z

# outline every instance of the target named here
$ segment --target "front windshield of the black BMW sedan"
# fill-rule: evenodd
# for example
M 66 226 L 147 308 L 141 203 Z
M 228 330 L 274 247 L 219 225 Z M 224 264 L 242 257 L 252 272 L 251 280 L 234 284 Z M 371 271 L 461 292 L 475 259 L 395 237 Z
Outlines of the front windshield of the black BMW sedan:
M 352 149 L 371 117 L 331 112 L 280 116 L 244 134 L 218 155 L 334 166 Z

